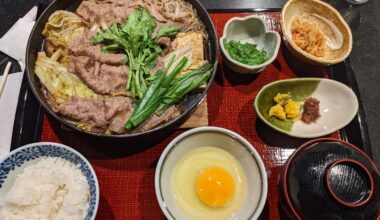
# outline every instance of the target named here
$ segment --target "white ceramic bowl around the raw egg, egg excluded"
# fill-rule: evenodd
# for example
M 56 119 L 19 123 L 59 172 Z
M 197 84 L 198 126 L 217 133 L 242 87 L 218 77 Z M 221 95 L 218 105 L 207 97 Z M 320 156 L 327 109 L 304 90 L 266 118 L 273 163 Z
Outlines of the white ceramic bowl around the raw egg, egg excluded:
M 219 127 L 199 127 L 176 137 L 162 153 L 155 175 L 155 190 L 159 205 L 168 219 L 189 219 L 176 203 L 172 191 L 172 171 L 187 152 L 204 146 L 214 146 L 233 155 L 247 178 L 247 196 L 234 219 L 257 219 L 262 212 L 268 191 L 265 166 L 255 148 L 237 133 Z

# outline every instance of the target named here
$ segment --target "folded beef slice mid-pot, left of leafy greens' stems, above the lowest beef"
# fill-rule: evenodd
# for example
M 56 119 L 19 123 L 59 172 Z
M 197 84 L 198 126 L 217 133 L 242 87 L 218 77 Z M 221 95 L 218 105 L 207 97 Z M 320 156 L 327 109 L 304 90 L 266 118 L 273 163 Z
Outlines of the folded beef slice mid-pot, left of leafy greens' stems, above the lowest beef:
M 92 90 L 101 95 L 127 95 L 125 85 L 128 67 L 100 64 L 90 57 L 71 57 L 69 72 L 78 75 Z

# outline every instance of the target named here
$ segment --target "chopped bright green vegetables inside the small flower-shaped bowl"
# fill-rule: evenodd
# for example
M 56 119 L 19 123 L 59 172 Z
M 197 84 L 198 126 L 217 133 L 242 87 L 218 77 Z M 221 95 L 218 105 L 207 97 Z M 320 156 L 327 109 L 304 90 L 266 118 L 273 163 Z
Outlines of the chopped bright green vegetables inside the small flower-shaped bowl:
M 224 47 L 232 59 L 247 65 L 259 65 L 268 59 L 265 50 L 258 50 L 254 44 L 231 40 Z

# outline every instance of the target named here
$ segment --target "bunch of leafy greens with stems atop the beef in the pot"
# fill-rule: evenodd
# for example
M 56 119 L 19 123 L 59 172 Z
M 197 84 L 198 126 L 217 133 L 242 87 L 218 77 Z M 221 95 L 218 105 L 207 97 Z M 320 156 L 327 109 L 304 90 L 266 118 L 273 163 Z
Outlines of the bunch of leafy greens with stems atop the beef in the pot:
M 95 35 L 92 44 L 103 43 L 103 52 L 115 53 L 124 51 L 124 62 L 129 66 L 126 90 L 131 92 L 133 99 L 141 99 L 147 90 L 148 80 L 157 77 L 151 74 L 157 65 L 157 58 L 162 53 L 161 47 L 153 38 L 156 22 L 145 8 L 137 8 L 128 16 L 124 24 L 113 23 L 102 33 Z M 174 36 L 180 28 L 163 25 L 156 38 Z

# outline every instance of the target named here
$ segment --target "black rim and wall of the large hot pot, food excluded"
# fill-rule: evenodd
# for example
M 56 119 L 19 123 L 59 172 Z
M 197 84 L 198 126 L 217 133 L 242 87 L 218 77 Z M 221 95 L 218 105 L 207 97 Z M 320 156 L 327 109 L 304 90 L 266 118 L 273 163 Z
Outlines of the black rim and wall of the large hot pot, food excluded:
M 214 24 L 212 23 L 212 20 L 209 17 L 206 9 L 201 5 L 201 3 L 198 0 L 186 0 L 186 1 L 190 2 L 193 5 L 201 21 L 206 26 L 206 30 L 208 33 L 208 41 L 205 44 L 205 56 L 209 62 L 213 63 L 218 59 L 218 56 L 219 56 L 218 38 L 217 38 Z M 72 130 L 75 130 L 77 132 L 80 132 L 88 136 L 99 138 L 101 140 L 106 140 L 106 139 L 117 140 L 118 139 L 118 140 L 121 140 L 123 142 L 128 142 L 128 143 L 138 143 L 138 142 L 146 143 L 151 140 L 160 139 L 161 137 L 164 137 L 170 132 L 172 132 L 174 129 L 178 128 L 183 122 L 186 121 L 186 119 L 189 118 L 192 112 L 196 109 L 196 107 L 201 103 L 201 101 L 205 97 L 215 77 L 216 69 L 211 75 L 207 83 L 207 86 L 204 90 L 188 95 L 187 99 L 182 104 L 179 105 L 180 110 L 181 110 L 180 116 L 178 116 L 176 119 L 170 122 L 167 122 L 166 124 L 162 124 L 149 131 L 144 131 L 144 132 L 135 133 L 135 134 L 122 134 L 122 135 L 93 133 L 93 132 L 82 130 L 74 126 L 73 124 L 64 120 L 64 118 L 61 115 L 57 114 L 51 109 L 51 107 L 49 106 L 49 104 L 47 103 L 45 97 L 43 96 L 41 92 L 41 83 L 34 72 L 34 66 L 37 59 L 37 53 L 42 50 L 43 45 L 44 45 L 44 37 L 41 35 L 41 33 L 42 33 L 42 30 L 44 29 L 45 23 L 47 22 L 49 16 L 52 13 L 54 13 L 57 10 L 74 11 L 81 2 L 82 0 L 56 0 L 52 2 L 47 7 L 47 9 L 42 13 L 42 15 L 39 17 L 39 19 L 37 20 L 32 30 L 31 36 L 29 38 L 28 46 L 27 46 L 27 51 L 26 51 L 26 70 L 27 70 L 29 85 L 34 95 L 36 96 L 38 101 L 41 103 L 41 105 L 52 117 L 54 117 L 56 120 L 58 120 L 60 123 L 67 126 L 68 128 L 71 128 Z

